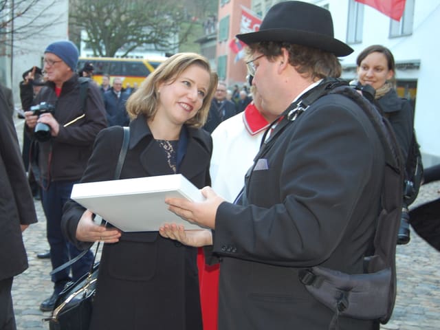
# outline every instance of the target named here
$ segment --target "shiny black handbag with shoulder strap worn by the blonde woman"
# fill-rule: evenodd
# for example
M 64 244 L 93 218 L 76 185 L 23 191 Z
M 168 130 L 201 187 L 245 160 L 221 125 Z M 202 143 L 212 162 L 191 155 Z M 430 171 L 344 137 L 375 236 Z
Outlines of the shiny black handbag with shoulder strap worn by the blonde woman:
M 124 127 L 124 138 L 115 169 L 115 179 L 120 178 L 126 151 L 129 147 L 129 127 Z M 76 282 L 67 283 L 56 299 L 54 310 L 49 321 L 50 330 L 89 330 L 91 311 L 98 282 L 99 262 L 95 263 L 100 243 L 96 246 L 94 262 L 90 271 Z M 54 274 L 78 261 L 88 250 L 83 251 L 75 259 L 61 265 L 51 272 Z

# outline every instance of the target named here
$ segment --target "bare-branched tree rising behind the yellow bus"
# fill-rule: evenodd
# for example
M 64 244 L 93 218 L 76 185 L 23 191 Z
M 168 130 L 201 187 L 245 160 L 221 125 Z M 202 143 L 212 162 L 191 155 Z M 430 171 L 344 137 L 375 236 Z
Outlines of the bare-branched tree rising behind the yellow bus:
M 69 30 L 76 31 L 76 37 L 81 30 L 87 32 L 85 42 L 95 56 L 113 57 L 117 52 L 127 56 L 145 45 L 173 52 L 179 43 L 188 39 L 195 24 L 193 17 L 200 8 L 213 2 L 71 0 L 69 23 L 72 28 Z

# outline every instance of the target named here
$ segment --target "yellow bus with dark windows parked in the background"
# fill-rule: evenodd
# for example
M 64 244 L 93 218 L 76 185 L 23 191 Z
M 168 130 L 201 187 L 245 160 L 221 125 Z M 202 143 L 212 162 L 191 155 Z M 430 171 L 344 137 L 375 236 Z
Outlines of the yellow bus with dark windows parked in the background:
M 134 83 L 140 85 L 142 81 L 165 61 L 164 56 L 148 58 L 112 58 L 112 57 L 80 57 L 78 61 L 78 71 L 84 67 L 86 62 L 94 65 L 94 80 L 98 85 L 102 83 L 102 76 L 110 76 L 110 84 L 115 77 L 122 78 L 122 86 L 125 88 L 129 83 L 133 87 Z

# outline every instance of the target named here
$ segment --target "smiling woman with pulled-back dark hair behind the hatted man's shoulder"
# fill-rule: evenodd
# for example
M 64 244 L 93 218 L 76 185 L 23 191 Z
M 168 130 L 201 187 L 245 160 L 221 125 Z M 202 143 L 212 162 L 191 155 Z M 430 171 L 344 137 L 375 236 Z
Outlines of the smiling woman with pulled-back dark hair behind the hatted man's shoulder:
M 382 45 L 371 45 L 360 52 L 356 59 L 356 65 L 358 65 L 359 83 L 371 85 L 375 89 L 375 99 L 380 105 L 382 114 L 388 118 L 393 126 L 404 164 L 406 164 L 414 132 L 414 111 L 410 102 L 399 98 L 394 89 L 395 62 L 393 54 Z M 406 244 L 409 241 L 408 206 L 404 202 L 397 243 Z

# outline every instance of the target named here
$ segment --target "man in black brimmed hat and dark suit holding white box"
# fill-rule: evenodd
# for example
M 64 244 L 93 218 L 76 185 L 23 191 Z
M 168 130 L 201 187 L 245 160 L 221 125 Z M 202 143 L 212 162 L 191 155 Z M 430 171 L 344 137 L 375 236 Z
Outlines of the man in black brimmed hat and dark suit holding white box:
M 274 5 L 259 32 L 237 38 L 248 45 L 262 106 L 282 116 L 235 204 L 211 188 L 202 190 L 201 203 L 166 199 L 170 210 L 212 233 L 176 225 L 160 233 L 189 245 L 213 244 L 221 261 L 219 330 L 321 330 L 332 320 L 339 329 L 379 329 L 375 320 L 338 318 L 299 276 L 316 265 L 362 274 L 373 245 L 385 162 L 371 120 L 341 94 L 294 112 L 327 77 L 340 76 L 338 56 L 353 50 L 334 39 L 328 10 L 300 1 Z

